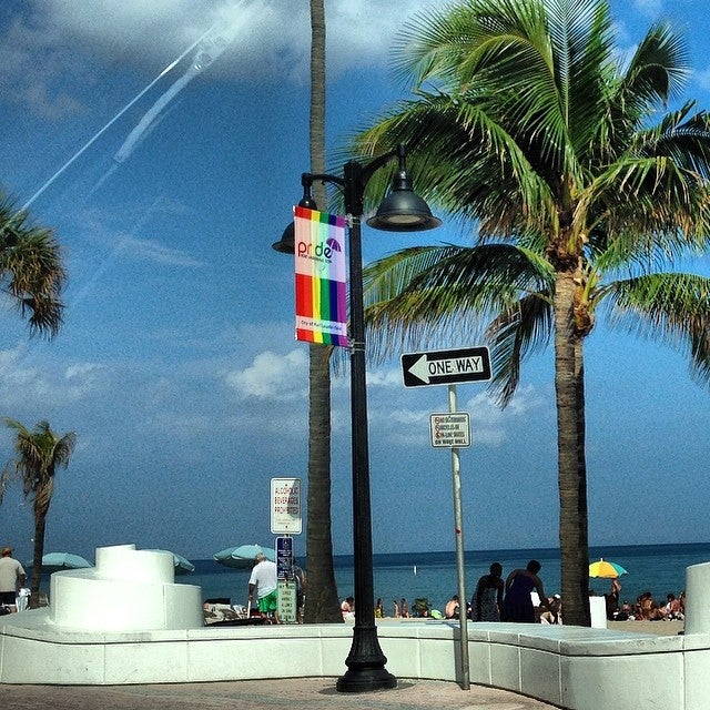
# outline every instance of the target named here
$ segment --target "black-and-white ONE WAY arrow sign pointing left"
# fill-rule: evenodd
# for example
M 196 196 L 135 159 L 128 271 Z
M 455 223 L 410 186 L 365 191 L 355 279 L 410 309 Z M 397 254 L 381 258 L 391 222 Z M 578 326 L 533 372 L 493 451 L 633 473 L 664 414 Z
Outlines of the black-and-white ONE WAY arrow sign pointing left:
M 487 382 L 490 379 L 490 354 L 487 347 L 404 353 L 402 376 L 405 387 Z

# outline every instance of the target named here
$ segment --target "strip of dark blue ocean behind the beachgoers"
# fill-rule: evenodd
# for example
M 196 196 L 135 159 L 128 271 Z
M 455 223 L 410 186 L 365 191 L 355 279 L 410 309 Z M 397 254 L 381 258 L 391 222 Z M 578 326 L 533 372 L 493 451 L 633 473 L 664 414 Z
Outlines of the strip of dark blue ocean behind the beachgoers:
M 686 587 L 686 567 L 710 561 L 710 544 L 623 545 L 590 547 L 589 559 L 607 559 L 621 565 L 621 601 L 635 601 L 643 591 L 651 591 L 657 601 L 666 595 L 676 596 Z M 490 562 L 503 565 L 504 579 L 513 569 L 525 567 L 530 559 L 542 565 L 539 577 L 545 592 L 560 591 L 560 560 L 556 548 L 499 549 L 467 551 L 466 596 L 470 599 L 478 578 L 488 572 Z M 191 560 L 195 571 L 180 575 L 175 581 L 202 587 L 202 598 L 229 598 L 231 604 L 246 604 L 250 570 L 230 569 L 212 559 Z M 426 597 L 432 608 L 444 610 L 452 595 L 458 592 L 455 551 L 399 552 L 374 555 L 375 598 L 382 598 L 385 613 L 393 615 L 393 600 L 403 597 L 409 606 L 417 597 Z M 335 578 L 341 599 L 354 595 L 353 557 L 336 555 Z M 307 570 L 306 570 L 307 574 Z M 596 594 L 609 591 L 610 580 L 590 579 Z M 357 602 L 357 600 L 355 600 Z

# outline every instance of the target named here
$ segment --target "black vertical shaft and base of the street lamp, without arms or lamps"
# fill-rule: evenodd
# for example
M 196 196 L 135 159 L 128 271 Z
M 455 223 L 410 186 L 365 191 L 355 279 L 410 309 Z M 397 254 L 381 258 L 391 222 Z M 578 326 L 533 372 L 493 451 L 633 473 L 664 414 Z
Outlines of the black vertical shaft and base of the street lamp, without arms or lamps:
M 358 166 L 345 166 L 346 203 L 362 201 Z M 353 197 L 354 194 L 354 197 Z M 346 207 L 348 205 L 346 204 Z M 375 623 L 373 584 L 372 514 L 369 500 L 369 452 L 367 442 L 367 388 L 365 384 L 365 316 L 363 304 L 363 256 L 359 219 L 351 214 L 351 418 L 353 446 L 353 551 L 355 557 L 355 628 L 345 659 L 347 671 L 336 688 L 343 692 L 366 692 L 396 688 L 397 679 L 385 669 L 387 658 L 379 648 Z

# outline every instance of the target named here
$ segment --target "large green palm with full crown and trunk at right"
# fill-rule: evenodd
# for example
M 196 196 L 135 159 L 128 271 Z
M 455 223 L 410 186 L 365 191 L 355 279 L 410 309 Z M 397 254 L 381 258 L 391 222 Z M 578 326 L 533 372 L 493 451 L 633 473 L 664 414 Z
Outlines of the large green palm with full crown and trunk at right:
M 471 247 L 405 250 L 367 270 L 368 318 L 390 351 L 490 320 L 505 403 L 520 359 L 554 341 L 561 591 L 566 622 L 584 626 L 584 339 L 604 311 L 684 344 L 710 375 L 710 281 L 662 271 L 708 248 L 710 119 L 693 103 L 666 112 L 688 75 L 669 24 L 627 62 L 612 27 L 606 0 L 468 0 L 419 16 L 397 48 L 416 97 L 356 139 L 367 155 L 407 142 L 418 191 L 477 226 Z

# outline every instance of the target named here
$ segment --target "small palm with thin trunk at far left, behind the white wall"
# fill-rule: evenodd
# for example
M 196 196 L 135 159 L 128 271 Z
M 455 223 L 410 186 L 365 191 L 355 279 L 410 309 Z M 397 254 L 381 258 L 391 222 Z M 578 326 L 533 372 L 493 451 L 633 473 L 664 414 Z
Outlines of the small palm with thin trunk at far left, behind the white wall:
M 30 608 L 37 609 L 40 599 L 42 556 L 44 555 L 44 530 L 47 514 L 52 501 L 54 474 L 58 467 L 67 468 L 77 444 L 77 435 L 69 432 L 57 435 L 48 422 L 38 422 L 33 430 L 10 418 L 4 424 L 16 432 L 17 458 L 6 467 L 3 481 L 12 474 L 22 479 L 24 497 L 32 499 L 34 511 L 34 551 L 32 555 L 32 581 L 30 584 Z M 14 470 L 12 470 L 14 469 Z

